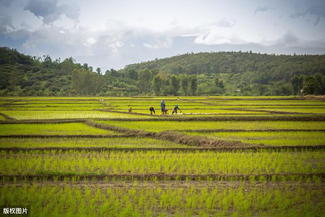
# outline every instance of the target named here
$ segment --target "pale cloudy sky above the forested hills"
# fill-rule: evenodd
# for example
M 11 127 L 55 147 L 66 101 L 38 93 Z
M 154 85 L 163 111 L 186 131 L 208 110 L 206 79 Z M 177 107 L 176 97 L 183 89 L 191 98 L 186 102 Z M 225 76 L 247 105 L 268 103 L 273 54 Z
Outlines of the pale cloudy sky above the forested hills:
M 94 69 L 187 52 L 325 53 L 325 0 L 0 0 L 0 46 Z

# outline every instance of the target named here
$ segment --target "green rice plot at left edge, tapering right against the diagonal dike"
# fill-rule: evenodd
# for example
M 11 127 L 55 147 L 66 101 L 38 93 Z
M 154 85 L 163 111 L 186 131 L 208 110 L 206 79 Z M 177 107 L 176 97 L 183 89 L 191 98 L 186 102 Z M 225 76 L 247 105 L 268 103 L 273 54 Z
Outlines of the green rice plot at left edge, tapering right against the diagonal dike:
M 0 125 L 0 135 L 115 135 L 83 123 L 15 123 Z

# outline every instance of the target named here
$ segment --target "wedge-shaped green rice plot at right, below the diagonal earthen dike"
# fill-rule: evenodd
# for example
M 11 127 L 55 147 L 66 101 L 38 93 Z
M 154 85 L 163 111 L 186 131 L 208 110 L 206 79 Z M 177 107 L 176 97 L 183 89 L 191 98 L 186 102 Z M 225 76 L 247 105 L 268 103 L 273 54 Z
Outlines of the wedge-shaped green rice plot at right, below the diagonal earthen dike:
M 266 145 L 325 145 L 325 132 L 191 132 L 187 134 Z

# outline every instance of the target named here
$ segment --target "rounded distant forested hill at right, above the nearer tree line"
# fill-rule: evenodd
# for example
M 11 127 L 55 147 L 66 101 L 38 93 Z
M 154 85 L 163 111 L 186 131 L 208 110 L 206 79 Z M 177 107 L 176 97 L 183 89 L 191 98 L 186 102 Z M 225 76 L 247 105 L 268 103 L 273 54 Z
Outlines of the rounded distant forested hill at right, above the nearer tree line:
M 127 65 L 124 70 L 154 69 L 167 74 L 257 75 L 260 83 L 289 79 L 294 74 L 325 72 L 325 55 L 275 55 L 252 52 L 186 53 Z M 282 77 L 284 76 L 284 77 Z M 249 77 L 249 76 L 248 76 Z M 263 77 L 268 77 L 263 81 Z

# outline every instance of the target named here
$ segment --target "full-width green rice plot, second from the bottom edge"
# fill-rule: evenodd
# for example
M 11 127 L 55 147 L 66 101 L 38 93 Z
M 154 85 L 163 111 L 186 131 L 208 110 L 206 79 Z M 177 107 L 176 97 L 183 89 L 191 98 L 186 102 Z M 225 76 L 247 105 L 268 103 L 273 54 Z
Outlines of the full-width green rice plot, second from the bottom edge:
M 319 173 L 324 150 L 317 151 L 1 151 L 0 171 L 23 174 L 273 174 Z

